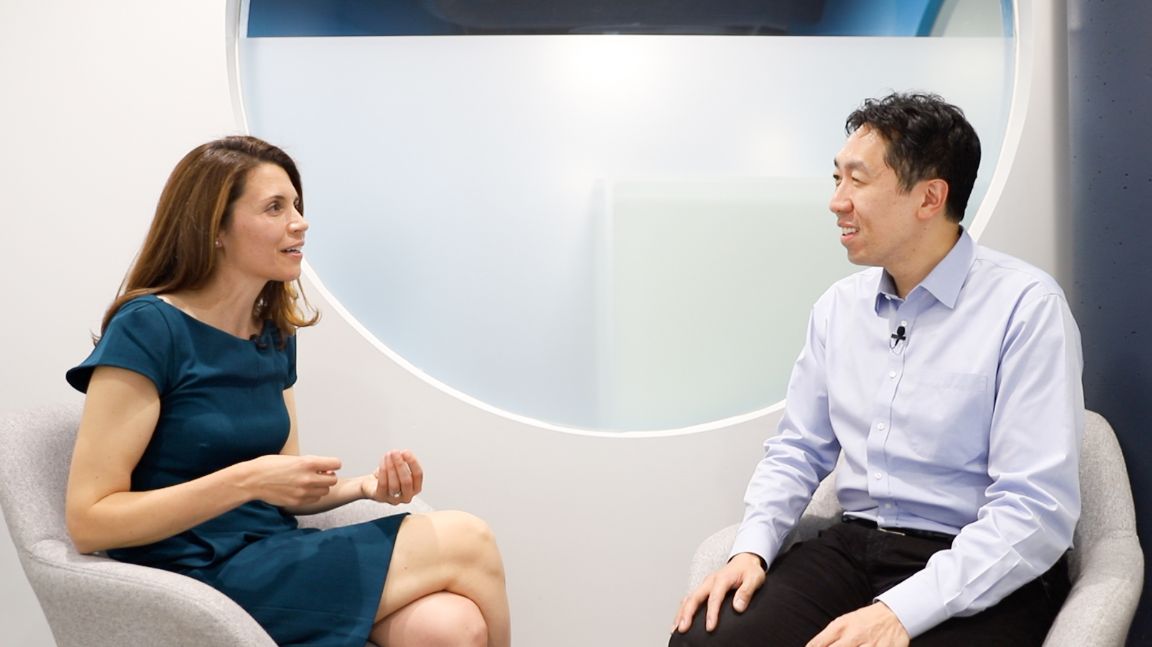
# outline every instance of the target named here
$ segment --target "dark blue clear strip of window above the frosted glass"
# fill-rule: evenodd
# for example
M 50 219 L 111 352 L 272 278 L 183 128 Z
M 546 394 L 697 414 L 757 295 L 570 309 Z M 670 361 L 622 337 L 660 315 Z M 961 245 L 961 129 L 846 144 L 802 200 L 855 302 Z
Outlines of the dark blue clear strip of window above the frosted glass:
M 931 36 L 942 5 L 943 0 L 249 0 L 247 35 Z

